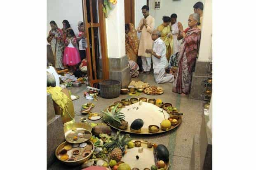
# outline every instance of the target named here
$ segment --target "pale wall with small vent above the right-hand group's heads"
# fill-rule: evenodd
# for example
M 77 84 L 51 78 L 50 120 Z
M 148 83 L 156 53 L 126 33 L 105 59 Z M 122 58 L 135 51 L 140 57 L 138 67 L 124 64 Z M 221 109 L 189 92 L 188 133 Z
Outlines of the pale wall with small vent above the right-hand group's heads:
M 150 15 L 155 18 L 155 28 L 162 24 L 163 16 L 171 16 L 177 14 L 177 20 L 182 23 L 183 28 L 188 28 L 188 16 L 194 13 L 193 6 L 196 2 L 205 0 L 161 0 L 160 9 L 155 10 L 155 0 L 149 0 Z

